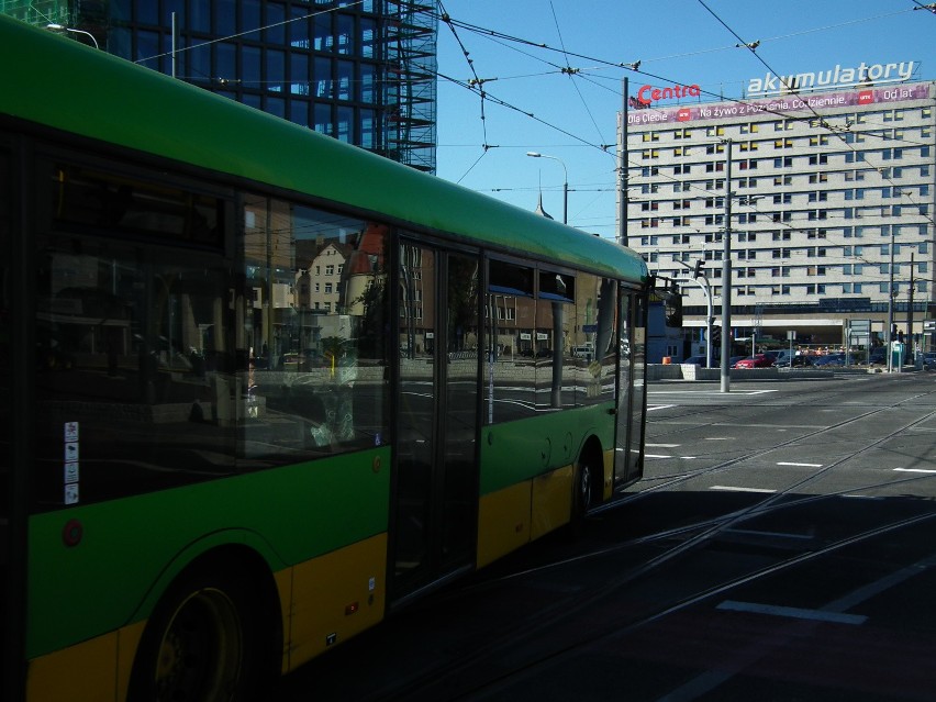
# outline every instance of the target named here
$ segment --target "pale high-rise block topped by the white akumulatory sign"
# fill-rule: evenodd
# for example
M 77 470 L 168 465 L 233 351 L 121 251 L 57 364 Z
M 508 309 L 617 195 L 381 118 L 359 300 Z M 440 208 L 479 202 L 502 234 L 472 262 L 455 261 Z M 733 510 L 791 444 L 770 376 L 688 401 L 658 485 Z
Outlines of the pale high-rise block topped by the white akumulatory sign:
M 717 317 L 728 233 L 736 336 L 840 344 L 870 322 L 883 339 L 889 319 L 922 333 L 936 315 L 936 83 L 907 76 L 904 64 L 837 66 L 789 77 L 795 91 L 767 77 L 751 81 L 759 96 L 717 102 L 698 86 L 640 88 L 627 112 L 629 245 L 682 281 L 704 261 Z M 704 327 L 702 286 L 682 292 L 687 327 Z

